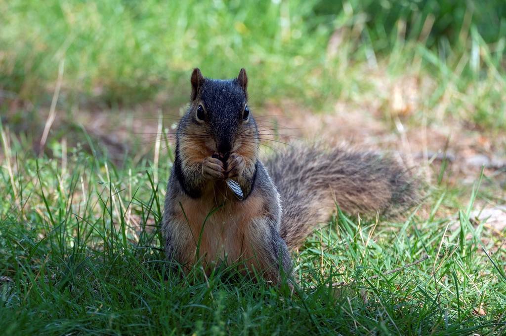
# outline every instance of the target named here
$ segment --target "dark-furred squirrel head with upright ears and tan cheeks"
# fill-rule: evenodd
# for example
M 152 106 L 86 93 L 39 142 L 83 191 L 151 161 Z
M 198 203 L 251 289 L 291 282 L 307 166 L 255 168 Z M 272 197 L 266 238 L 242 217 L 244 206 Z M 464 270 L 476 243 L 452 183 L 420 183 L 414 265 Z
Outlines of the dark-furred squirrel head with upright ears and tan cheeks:
M 237 78 L 221 80 L 204 78 L 195 68 L 190 106 L 179 124 L 180 148 L 193 148 L 203 156 L 235 152 L 256 157 L 259 135 L 247 105 L 247 83 L 244 69 Z

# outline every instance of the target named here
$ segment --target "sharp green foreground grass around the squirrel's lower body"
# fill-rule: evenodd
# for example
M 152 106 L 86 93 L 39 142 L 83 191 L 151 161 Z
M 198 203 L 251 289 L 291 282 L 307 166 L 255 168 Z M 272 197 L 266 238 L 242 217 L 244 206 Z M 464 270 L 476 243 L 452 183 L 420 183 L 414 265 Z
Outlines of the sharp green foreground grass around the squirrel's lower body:
M 470 221 L 478 193 L 447 217 L 436 215 L 443 189 L 431 191 L 430 214 L 414 211 L 404 222 L 339 213 L 294 255 L 300 286 L 292 295 L 286 284 L 237 274 L 236 265 L 210 276 L 199 267 L 189 276 L 168 271 L 159 225 L 170 164 L 120 169 L 83 152 L 37 159 L 6 129 L 2 135 L 0 328 L 7 334 L 506 330 L 504 235 Z

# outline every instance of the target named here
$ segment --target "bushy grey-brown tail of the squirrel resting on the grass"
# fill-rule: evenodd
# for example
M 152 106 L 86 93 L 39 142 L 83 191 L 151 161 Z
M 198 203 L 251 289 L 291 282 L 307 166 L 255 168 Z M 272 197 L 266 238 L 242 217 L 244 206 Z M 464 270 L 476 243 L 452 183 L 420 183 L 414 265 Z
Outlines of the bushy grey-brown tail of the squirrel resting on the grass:
M 377 153 L 295 146 L 266 167 L 281 196 L 281 237 L 291 249 L 329 219 L 335 202 L 349 214 L 395 216 L 418 198 L 406 169 Z

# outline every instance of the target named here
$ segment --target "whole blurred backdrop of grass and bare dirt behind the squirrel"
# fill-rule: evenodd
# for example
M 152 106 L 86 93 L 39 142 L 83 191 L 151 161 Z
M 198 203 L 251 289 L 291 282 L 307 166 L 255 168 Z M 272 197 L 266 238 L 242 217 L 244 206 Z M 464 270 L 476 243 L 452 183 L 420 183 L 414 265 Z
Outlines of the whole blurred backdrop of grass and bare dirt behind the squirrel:
M 0 22 L 3 151 L 166 160 L 192 68 L 244 67 L 268 148 L 396 150 L 456 185 L 484 166 L 503 199 L 502 0 L 4 0 Z

